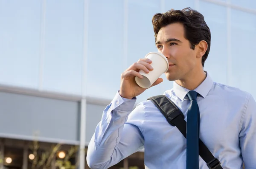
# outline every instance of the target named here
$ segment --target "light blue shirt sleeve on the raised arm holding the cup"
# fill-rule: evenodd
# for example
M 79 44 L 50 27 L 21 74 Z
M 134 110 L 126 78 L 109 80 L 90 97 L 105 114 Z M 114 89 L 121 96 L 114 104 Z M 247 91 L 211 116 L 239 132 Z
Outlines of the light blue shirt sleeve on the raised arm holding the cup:
M 133 111 L 135 99 L 122 98 L 116 93 L 103 111 L 87 149 L 87 164 L 91 169 L 107 169 L 134 152 L 143 149 L 143 107 Z M 137 125 L 126 123 L 130 113 L 136 114 Z

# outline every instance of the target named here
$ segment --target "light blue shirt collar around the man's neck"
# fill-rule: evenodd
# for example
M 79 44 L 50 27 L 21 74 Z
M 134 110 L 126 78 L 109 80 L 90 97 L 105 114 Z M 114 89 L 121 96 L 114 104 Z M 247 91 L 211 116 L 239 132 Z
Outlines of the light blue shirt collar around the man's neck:
M 207 72 L 205 72 L 205 73 L 206 73 L 206 78 L 195 89 L 195 91 L 197 93 L 199 93 L 203 98 L 205 98 L 207 96 L 207 94 L 209 93 L 209 91 L 212 87 L 212 84 L 213 84 L 212 78 L 209 76 L 209 73 L 207 73 Z M 175 92 L 175 95 L 178 96 L 178 98 L 182 101 L 184 100 L 186 94 L 189 92 L 188 89 L 178 85 L 175 81 L 173 82 L 173 90 Z

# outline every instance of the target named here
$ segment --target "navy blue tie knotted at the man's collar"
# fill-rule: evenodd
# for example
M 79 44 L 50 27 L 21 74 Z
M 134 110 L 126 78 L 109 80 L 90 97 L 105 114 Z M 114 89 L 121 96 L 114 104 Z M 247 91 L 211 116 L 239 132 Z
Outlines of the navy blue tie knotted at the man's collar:
M 194 90 L 189 91 L 187 96 L 190 106 L 187 113 L 187 148 L 186 148 L 186 168 L 199 169 L 199 126 L 200 113 L 196 98 L 198 93 Z

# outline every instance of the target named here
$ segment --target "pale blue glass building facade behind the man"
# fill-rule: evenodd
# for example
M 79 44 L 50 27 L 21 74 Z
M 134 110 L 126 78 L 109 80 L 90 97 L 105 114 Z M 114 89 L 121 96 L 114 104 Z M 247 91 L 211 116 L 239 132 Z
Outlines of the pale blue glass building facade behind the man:
M 157 51 L 153 15 L 186 7 L 211 30 L 204 69 L 256 98 L 255 0 L 0 0 L 0 138 L 86 147 L 121 73 Z M 137 102 L 171 89 L 163 79 Z

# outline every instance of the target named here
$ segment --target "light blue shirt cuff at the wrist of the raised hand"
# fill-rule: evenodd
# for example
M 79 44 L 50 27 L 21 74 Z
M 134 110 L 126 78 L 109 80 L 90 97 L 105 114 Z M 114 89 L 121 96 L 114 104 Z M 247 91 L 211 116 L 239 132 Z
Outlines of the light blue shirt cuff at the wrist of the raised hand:
M 134 107 L 137 98 L 126 99 L 120 96 L 119 91 L 116 93 L 116 96 L 111 102 L 112 109 L 121 110 L 121 111 L 131 111 Z

